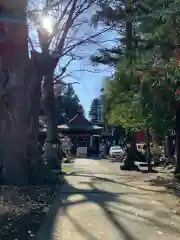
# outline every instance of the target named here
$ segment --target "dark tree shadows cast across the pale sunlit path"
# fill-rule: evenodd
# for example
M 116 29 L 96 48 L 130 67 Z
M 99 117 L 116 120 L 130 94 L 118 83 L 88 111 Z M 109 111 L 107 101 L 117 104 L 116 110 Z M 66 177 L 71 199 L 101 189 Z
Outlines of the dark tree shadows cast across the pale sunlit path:
M 81 174 L 81 173 L 76 173 L 76 172 L 73 172 L 70 175 L 74 176 L 74 178 L 90 176 L 90 174 Z M 126 209 L 125 205 L 132 206 L 132 207 L 136 208 L 137 211 L 138 211 L 138 209 L 143 209 L 143 206 L 141 206 L 140 204 L 134 203 L 133 199 L 131 201 L 126 201 L 126 199 L 121 199 L 121 197 L 120 197 L 120 200 L 119 200 L 119 195 L 120 196 L 126 195 L 126 194 L 134 195 L 135 192 L 130 192 L 131 189 L 129 192 L 125 192 L 125 193 L 123 193 L 123 192 L 122 193 L 111 193 L 111 192 L 103 191 L 96 187 L 95 183 L 97 183 L 98 181 L 101 181 L 104 183 L 106 183 L 106 182 L 113 183 L 113 184 L 115 183 L 115 184 L 120 184 L 120 185 L 130 187 L 130 188 L 136 188 L 133 185 L 128 184 L 128 183 L 116 182 L 116 181 L 108 179 L 108 178 L 94 176 L 94 173 L 91 174 L 90 182 L 84 181 L 84 182 L 79 183 L 79 184 L 86 183 L 87 185 L 89 185 L 90 189 L 86 189 L 86 188 L 78 189 L 75 186 L 69 184 L 68 182 L 65 182 L 64 186 L 61 188 L 60 196 L 56 199 L 55 204 L 52 208 L 52 211 L 49 213 L 49 215 L 47 217 L 47 222 L 41 228 L 41 231 L 37 235 L 36 239 L 38 239 L 38 240 L 64 240 L 64 238 L 59 237 L 59 236 L 61 236 L 61 230 L 59 230 L 60 232 L 59 232 L 58 237 L 57 238 L 54 237 L 54 236 L 56 236 L 55 225 L 58 225 L 57 219 L 59 219 L 58 221 L 59 221 L 59 224 L 61 225 L 61 216 L 64 215 L 68 218 L 68 220 L 71 222 L 71 224 L 73 224 L 76 231 L 79 232 L 80 235 L 84 236 L 85 239 L 98 240 L 99 239 L 98 236 L 95 237 L 93 235 L 93 230 L 90 227 L 87 228 L 87 226 L 83 226 L 83 219 L 82 219 L 82 225 L 81 225 L 77 222 L 76 219 L 74 219 L 68 213 L 68 208 L 71 206 L 79 205 L 79 207 L 81 207 L 80 204 L 94 203 L 95 205 L 100 207 L 100 209 L 103 211 L 103 214 L 106 216 L 106 218 L 109 220 L 109 222 L 111 222 L 111 224 L 114 226 L 114 228 L 118 232 L 119 236 L 122 237 L 122 239 L 124 239 L 124 240 L 140 240 L 139 238 L 137 238 L 135 236 L 135 234 L 132 233 L 131 226 L 129 226 L 129 225 L 125 226 L 125 224 L 123 224 L 123 222 L 121 220 L 119 220 L 119 218 L 117 220 L 116 216 L 114 215 L 114 211 L 116 211 L 116 212 L 119 211 L 120 215 L 122 215 L 122 218 L 124 215 L 124 217 L 126 219 L 128 219 L 128 218 L 130 219 L 131 216 L 134 215 L 134 212 L 132 212 L 129 208 Z M 78 184 L 78 186 L 79 186 L 79 184 Z M 148 189 L 143 189 L 143 188 L 138 188 L 138 189 L 146 191 L 146 193 L 143 193 L 143 192 L 138 193 L 139 196 L 140 195 L 144 196 L 147 194 L 147 191 L 150 191 Z M 70 201 L 69 196 L 73 196 L 76 194 L 83 195 L 83 198 L 80 200 L 71 200 Z M 134 196 L 134 198 L 136 198 L 136 197 Z M 114 209 L 114 211 L 113 211 L 113 210 L 109 209 L 108 203 L 111 203 L 111 205 L 113 203 L 115 203 L 115 205 L 117 205 L 116 203 L 119 203 L 118 206 L 120 206 L 120 207 L 113 206 L 113 209 Z M 153 209 L 152 209 L 152 211 L 153 211 Z M 169 225 L 169 224 L 162 223 L 161 219 L 150 218 L 150 217 L 147 217 L 144 215 L 139 215 L 139 216 L 142 219 L 144 219 L 144 222 L 147 224 L 147 226 L 150 224 L 150 225 L 154 225 L 159 228 L 166 229 L 169 232 L 175 232 L 175 233 L 180 234 L 180 230 L 178 228 L 176 228 L 175 226 Z M 86 216 L 86 217 L 88 217 L 88 216 Z M 132 221 L 132 218 L 131 218 L 131 221 Z M 139 221 L 138 218 L 137 218 L 137 221 Z M 71 236 L 71 239 L 73 239 L 73 236 Z

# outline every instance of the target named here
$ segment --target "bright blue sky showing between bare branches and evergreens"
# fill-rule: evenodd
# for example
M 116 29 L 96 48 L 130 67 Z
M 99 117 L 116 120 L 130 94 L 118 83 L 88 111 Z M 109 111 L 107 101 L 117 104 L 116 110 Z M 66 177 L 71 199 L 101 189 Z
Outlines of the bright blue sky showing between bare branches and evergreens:
M 39 5 L 41 0 L 34 0 L 34 3 L 35 2 L 37 5 Z M 93 8 L 89 9 L 84 14 L 82 14 L 80 18 L 77 20 L 80 23 L 82 22 L 82 24 L 80 25 L 80 27 L 74 28 L 74 30 L 70 31 L 70 34 L 68 36 L 69 39 L 67 40 L 67 42 L 70 43 L 70 45 L 73 41 L 76 42 L 77 39 L 78 40 L 87 39 L 89 36 L 104 29 L 104 26 L 100 25 L 94 28 L 90 26 L 90 24 L 87 24 L 86 21 L 84 21 L 84 20 L 91 21 L 93 12 L 94 12 Z M 32 31 L 31 34 L 32 39 L 37 39 L 36 31 Z M 94 68 L 90 61 L 90 56 L 96 53 L 98 51 L 98 48 L 112 47 L 112 45 L 114 45 L 115 39 L 116 39 L 115 33 L 106 32 L 101 36 L 96 37 L 96 39 L 94 39 L 96 41 L 95 44 L 88 43 L 85 46 L 80 46 L 74 49 L 73 54 L 75 55 L 77 54 L 83 57 L 83 59 L 75 60 L 68 66 L 67 72 L 68 73 L 71 72 L 71 76 L 66 77 L 63 80 L 66 82 L 78 81 L 80 83 L 74 85 L 74 89 L 80 99 L 81 104 L 85 109 L 86 115 L 89 111 L 91 101 L 93 100 L 93 98 L 100 95 L 100 89 L 102 88 L 103 79 L 111 75 L 112 72 L 112 69 L 110 68 L 107 69 L 107 66 L 98 66 Z M 60 67 L 66 65 L 66 60 L 68 60 L 67 56 L 60 60 L 59 63 Z

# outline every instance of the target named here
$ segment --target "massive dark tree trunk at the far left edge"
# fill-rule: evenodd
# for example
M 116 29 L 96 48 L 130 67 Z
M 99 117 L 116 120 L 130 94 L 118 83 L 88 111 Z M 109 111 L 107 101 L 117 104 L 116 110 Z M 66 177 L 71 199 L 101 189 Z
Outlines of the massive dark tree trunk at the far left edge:
M 5 4 L 5 2 L 8 2 Z M 27 1 L 13 4 L 13 1 L 3 1 L 2 7 L 12 10 L 25 18 Z M 0 151 L 2 161 L 2 177 L 6 183 L 26 184 L 27 176 L 27 142 L 28 142 L 28 83 L 26 70 L 28 66 L 27 25 L 24 21 L 11 24 L 8 21 L 6 36 L 1 41 L 9 43 L 6 54 L 1 51 L 2 66 L 0 71 L 7 71 L 7 81 L 3 91 L 0 92 Z M 6 20 L 4 22 L 6 23 Z M 7 46 L 7 45 L 6 45 Z M 10 52 L 11 51 L 11 52 Z M 2 76 L 1 76 L 2 77 Z M 1 78 L 0 85 L 3 82 Z M 1 85 L 2 86 L 2 85 Z

